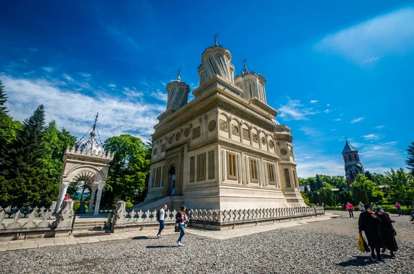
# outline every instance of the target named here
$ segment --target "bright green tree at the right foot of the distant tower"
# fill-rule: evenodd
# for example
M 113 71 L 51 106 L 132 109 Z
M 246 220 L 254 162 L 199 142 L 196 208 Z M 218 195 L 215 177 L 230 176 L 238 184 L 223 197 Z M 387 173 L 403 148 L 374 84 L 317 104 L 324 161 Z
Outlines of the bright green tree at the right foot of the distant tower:
M 368 204 L 374 202 L 376 204 L 382 202 L 384 193 L 377 184 L 366 179 L 363 174 L 358 174 L 353 184 L 351 184 L 353 202 L 362 202 Z

